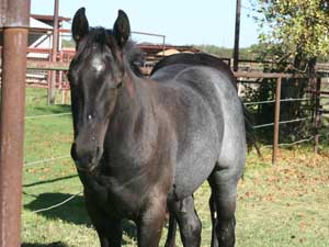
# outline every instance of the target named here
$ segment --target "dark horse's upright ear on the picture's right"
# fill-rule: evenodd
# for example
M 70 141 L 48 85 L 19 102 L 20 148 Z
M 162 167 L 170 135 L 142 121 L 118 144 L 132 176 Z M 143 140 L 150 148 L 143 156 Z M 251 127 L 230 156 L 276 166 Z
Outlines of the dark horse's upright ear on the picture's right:
M 118 10 L 117 19 L 113 26 L 114 37 L 121 48 L 127 43 L 131 36 L 131 24 L 127 14 Z

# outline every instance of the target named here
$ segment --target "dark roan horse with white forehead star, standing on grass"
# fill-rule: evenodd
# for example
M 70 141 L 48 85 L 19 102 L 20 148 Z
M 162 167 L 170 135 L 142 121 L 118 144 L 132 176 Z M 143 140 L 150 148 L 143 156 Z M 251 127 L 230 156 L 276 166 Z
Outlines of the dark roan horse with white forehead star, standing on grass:
M 138 246 L 158 246 L 166 209 L 179 223 L 183 245 L 200 246 L 192 194 L 205 180 L 217 211 L 218 244 L 234 246 L 246 135 L 232 78 L 220 68 L 180 65 L 163 66 L 150 79 L 136 76 L 123 11 L 110 31 L 90 29 L 82 8 L 72 35 L 71 156 L 101 246 L 121 246 L 125 217 L 137 225 Z

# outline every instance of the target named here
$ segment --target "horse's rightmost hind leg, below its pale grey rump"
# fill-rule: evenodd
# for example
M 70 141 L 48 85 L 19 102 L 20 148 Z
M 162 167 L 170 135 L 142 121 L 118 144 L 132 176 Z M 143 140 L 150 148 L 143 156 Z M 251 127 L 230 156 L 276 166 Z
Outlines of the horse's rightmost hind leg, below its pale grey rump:
M 218 165 L 212 172 L 208 181 L 212 187 L 212 199 L 216 207 L 215 232 L 219 247 L 235 246 L 236 226 L 236 191 L 238 175 L 231 173 L 228 169 L 220 169 Z M 213 236 L 214 237 L 214 236 Z M 213 240 L 216 245 L 216 240 Z

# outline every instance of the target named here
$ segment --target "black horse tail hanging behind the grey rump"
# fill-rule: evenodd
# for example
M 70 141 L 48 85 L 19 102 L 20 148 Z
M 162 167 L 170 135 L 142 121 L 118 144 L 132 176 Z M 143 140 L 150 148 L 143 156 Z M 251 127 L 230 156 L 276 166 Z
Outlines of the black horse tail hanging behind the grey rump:
M 246 108 L 246 105 L 242 103 L 242 101 L 241 101 L 241 105 L 242 105 L 243 116 L 245 116 L 246 141 L 247 141 L 248 151 L 250 151 L 252 147 L 254 147 L 258 156 L 263 157 L 259 146 L 257 145 L 252 115 L 250 111 Z

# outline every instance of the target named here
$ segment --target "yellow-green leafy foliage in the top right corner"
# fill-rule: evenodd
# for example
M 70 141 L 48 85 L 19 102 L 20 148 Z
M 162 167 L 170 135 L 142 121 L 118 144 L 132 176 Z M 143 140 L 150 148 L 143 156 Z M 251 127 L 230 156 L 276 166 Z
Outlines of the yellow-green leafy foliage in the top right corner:
M 329 55 L 328 0 L 254 0 L 260 41 L 281 45 L 286 58 L 314 60 Z M 299 68 L 298 68 L 299 67 Z

